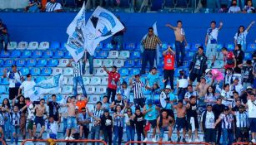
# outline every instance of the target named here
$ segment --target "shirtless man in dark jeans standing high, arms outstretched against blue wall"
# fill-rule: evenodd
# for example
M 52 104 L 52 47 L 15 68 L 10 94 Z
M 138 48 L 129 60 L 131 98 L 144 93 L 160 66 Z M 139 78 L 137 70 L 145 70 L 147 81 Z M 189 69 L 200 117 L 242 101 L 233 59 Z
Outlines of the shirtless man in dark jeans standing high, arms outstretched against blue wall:
M 177 27 L 173 27 L 170 24 L 166 24 L 165 26 L 173 29 L 173 31 L 174 31 L 177 66 L 183 66 L 183 60 L 184 60 L 184 57 L 185 57 L 185 46 L 187 46 L 185 31 L 182 28 L 183 27 L 183 22 L 179 20 L 177 22 Z M 180 60 L 179 60 L 179 53 L 181 53 L 181 59 Z

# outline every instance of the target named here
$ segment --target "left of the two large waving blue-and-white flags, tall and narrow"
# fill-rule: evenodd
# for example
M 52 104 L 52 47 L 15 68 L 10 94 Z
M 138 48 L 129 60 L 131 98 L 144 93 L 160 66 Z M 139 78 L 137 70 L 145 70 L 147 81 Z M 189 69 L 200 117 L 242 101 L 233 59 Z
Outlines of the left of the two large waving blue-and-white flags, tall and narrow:
M 84 44 L 84 34 L 83 30 L 85 27 L 85 4 L 83 2 L 83 7 L 78 12 L 78 15 L 73 19 L 67 28 L 68 42 L 66 48 L 73 60 L 78 62 L 83 56 L 85 47 Z

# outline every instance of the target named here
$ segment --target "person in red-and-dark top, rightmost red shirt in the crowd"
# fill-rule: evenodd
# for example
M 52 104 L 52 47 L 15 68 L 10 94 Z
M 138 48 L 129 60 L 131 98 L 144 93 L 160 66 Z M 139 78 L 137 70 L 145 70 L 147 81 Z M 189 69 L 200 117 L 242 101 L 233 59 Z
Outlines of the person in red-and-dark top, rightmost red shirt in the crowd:
M 223 59 L 224 59 L 224 69 L 227 70 L 229 68 L 233 69 L 233 67 L 236 65 L 236 59 L 235 56 L 233 55 L 232 51 L 228 52 L 228 49 L 226 47 L 223 47 L 221 50 L 223 53 Z

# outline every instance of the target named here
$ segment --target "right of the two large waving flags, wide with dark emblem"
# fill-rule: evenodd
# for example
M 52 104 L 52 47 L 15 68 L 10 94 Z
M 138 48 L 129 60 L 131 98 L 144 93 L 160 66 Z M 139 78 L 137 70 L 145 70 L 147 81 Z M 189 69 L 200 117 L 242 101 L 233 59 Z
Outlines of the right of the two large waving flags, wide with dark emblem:
M 93 56 L 100 41 L 108 39 L 123 28 L 122 23 L 112 12 L 97 7 L 83 29 L 84 47 Z

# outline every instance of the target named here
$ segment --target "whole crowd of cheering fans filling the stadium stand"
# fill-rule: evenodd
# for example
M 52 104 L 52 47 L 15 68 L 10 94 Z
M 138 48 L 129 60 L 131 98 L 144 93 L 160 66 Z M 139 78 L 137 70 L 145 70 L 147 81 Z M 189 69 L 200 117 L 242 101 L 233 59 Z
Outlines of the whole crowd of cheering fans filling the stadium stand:
M 223 22 L 219 22 L 218 27 L 216 22 L 211 22 L 205 37 L 206 53 L 203 46 L 198 47 L 190 62 L 189 72 L 182 69 L 187 45 L 182 22 L 178 21 L 176 27 L 166 24 L 174 31 L 175 51 L 171 46 L 163 51 L 163 70 L 154 67 L 157 45 L 162 46 L 162 42 L 153 34 L 153 27 L 149 27 L 147 36 L 141 42 L 143 65 L 140 74 L 134 75 L 128 82 L 120 82 L 117 66 L 113 66 L 112 70 L 103 66 L 108 73 L 107 95 L 93 109 L 88 108 L 89 96 L 83 85 L 87 53 L 78 62 L 69 61 L 67 67 L 73 67 L 74 94 L 63 98 L 61 103 L 57 103 L 55 94 L 48 99 L 30 97 L 29 92 L 35 85 L 33 76 L 28 74 L 25 80 L 17 66 L 13 65 L 12 70 L 3 75 L 9 81 L 9 98 L 3 99 L 0 107 L 1 138 L 11 138 L 11 143 L 15 141 L 18 144 L 21 135 L 23 139 L 46 139 L 43 133 L 47 133 L 47 138 L 57 139 L 59 123 L 63 123 L 66 140 L 103 138 L 108 144 L 121 144 L 125 128 L 127 141 L 147 142 L 148 133 L 153 128 L 153 142 L 162 142 L 164 132 L 168 131 L 169 142 L 256 143 L 256 52 L 253 53 L 253 61 L 245 62 L 243 53 L 246 36 L 253 24 L 251 22 L 246 29 L 243 26 L 238 28 L 233 51 L 222 48 L 224 65 L 218 70 L 214 69 L 214 60 L 218 31 L 222 29 Z M 7 27 L 3 26 L 1 21 L 1 36 L 8 33 Z M 122 37 L 123 33 L 124 30 L 120 31 L 118 37 Z M 123 39 L 116 38 L 117 35 L 113 37 L 113 44 L 123 45 L 120 42 Z M 213 57 L 210 68 L 206 64 L 209 57 Z M 146 74 L 148 62 L 150 72 Z M 177 86 L 174 86 L 174 69 L 178 68 Z M 163 71 L 163 80 L 158 71 Z M 142 77 L 146 77 L 146 83 L 141 80 Z M 194 86 L 195 80 L 197 84 Z M 83 94 L 78 94 L 78 83 Z M 150 90 L 151 95 L 144 95 L 143 89 Z M 159 94 L 165 98 L 157 99 Z M 38 125 L 41 126 L 40 133 L 37 133 Z M 175 129 L 178 139 L 174 141 L 172 133 Z M 204 138 L 198 138 L 199 131 Z M 135 133 L 138 138 L 134 138 Z

